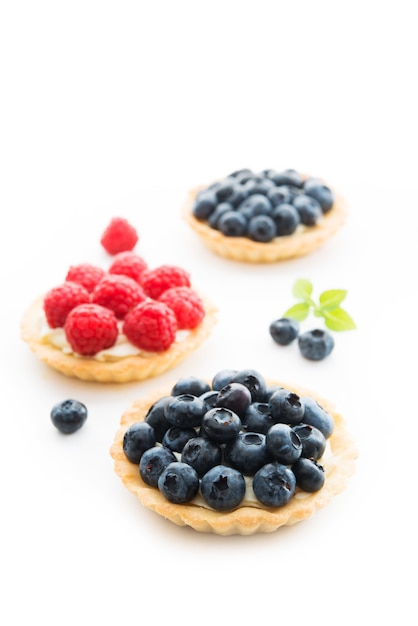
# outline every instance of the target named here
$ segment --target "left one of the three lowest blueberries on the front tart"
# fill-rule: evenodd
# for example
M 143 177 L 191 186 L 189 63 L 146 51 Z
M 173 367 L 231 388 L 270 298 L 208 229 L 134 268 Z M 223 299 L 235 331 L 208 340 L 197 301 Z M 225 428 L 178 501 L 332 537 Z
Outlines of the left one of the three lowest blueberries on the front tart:
M 175 461 L 160 475 L 158 489 L 169 502 L 184 504 L 193 500 L 199 491 L 199 476 L 187 463 Z

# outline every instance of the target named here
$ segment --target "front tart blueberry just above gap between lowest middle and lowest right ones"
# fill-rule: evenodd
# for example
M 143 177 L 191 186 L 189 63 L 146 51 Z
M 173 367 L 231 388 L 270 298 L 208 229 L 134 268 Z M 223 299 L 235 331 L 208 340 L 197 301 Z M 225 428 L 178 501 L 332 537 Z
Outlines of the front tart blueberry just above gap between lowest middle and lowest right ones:
M 239 433 L 238 437 L 225 446 L 224 459 L 242 474 L 253 476 L 271 460 L 266 436 L 256 432 Z

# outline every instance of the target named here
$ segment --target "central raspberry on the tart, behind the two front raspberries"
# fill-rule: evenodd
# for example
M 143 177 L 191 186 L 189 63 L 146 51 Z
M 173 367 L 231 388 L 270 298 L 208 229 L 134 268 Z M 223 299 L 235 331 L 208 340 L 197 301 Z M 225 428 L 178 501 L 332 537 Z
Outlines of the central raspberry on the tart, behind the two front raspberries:
M 146 298 L 142 287 L 133 278 L 123 276 L 123 274 L 104 276 L 91 294 L 93 304 L 100 304 L 111 309 L 120 320 Z

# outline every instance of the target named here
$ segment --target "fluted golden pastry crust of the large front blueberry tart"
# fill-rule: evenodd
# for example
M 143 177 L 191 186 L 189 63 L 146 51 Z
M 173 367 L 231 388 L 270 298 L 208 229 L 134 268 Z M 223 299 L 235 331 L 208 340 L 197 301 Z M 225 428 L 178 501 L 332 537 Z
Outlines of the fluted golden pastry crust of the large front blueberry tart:
M 145 418 L 148 408 L 158 398 L 169 395 L 171 388 L 160 389 L 137 399 L 123 413 L 120 427 L 110 448 L 116 474 L 144 506 L 178 526 L 190 526 L 199 532 L 212 532 L 218 535 L 267 533 L 311 517 L 345 489 L 348 479 L 355 471 L 357 446 L 347 430 L 343 417 L 330 402 L 300 387 L 279 384 L 299 395 L 314 397 L 334 418 L 334 432 L 329 438 L 333 461 L 329 467 L 324 464 L 325 484 L 316 493 L 303 494 L 303 498 L 293 497 L 282 507 L 265 507 L 260 504 L 259 507 L 242 506 L 230 512 L 214 511 L 193 503 L 172 504 L 166 500 L 158 489 L 144 483 L 139 475 L 138 466 L 127 460 L 123 452 L 123 436 L 131 424 Z

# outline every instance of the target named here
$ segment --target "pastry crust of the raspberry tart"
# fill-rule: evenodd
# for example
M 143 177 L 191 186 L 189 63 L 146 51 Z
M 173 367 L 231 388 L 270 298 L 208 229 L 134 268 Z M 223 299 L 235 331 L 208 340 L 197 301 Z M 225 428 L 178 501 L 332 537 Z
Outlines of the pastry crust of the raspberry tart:
M 65 354 L 59 348 L 42 341 L 39 323 L 43 298 L 35 300 L 21 322 L 21 337 L 35 355 L 53 369 L 71 378 L 99 383 L 128 383 L 163 374 L 183 361 L 210 335 L 217 321 L 217 309 L 202 298 L 205 317 L 199 326 L 182 341 L 175 342 L 164 352 L 142 352 L 114 361 L 99 361 L 90 357 Z

